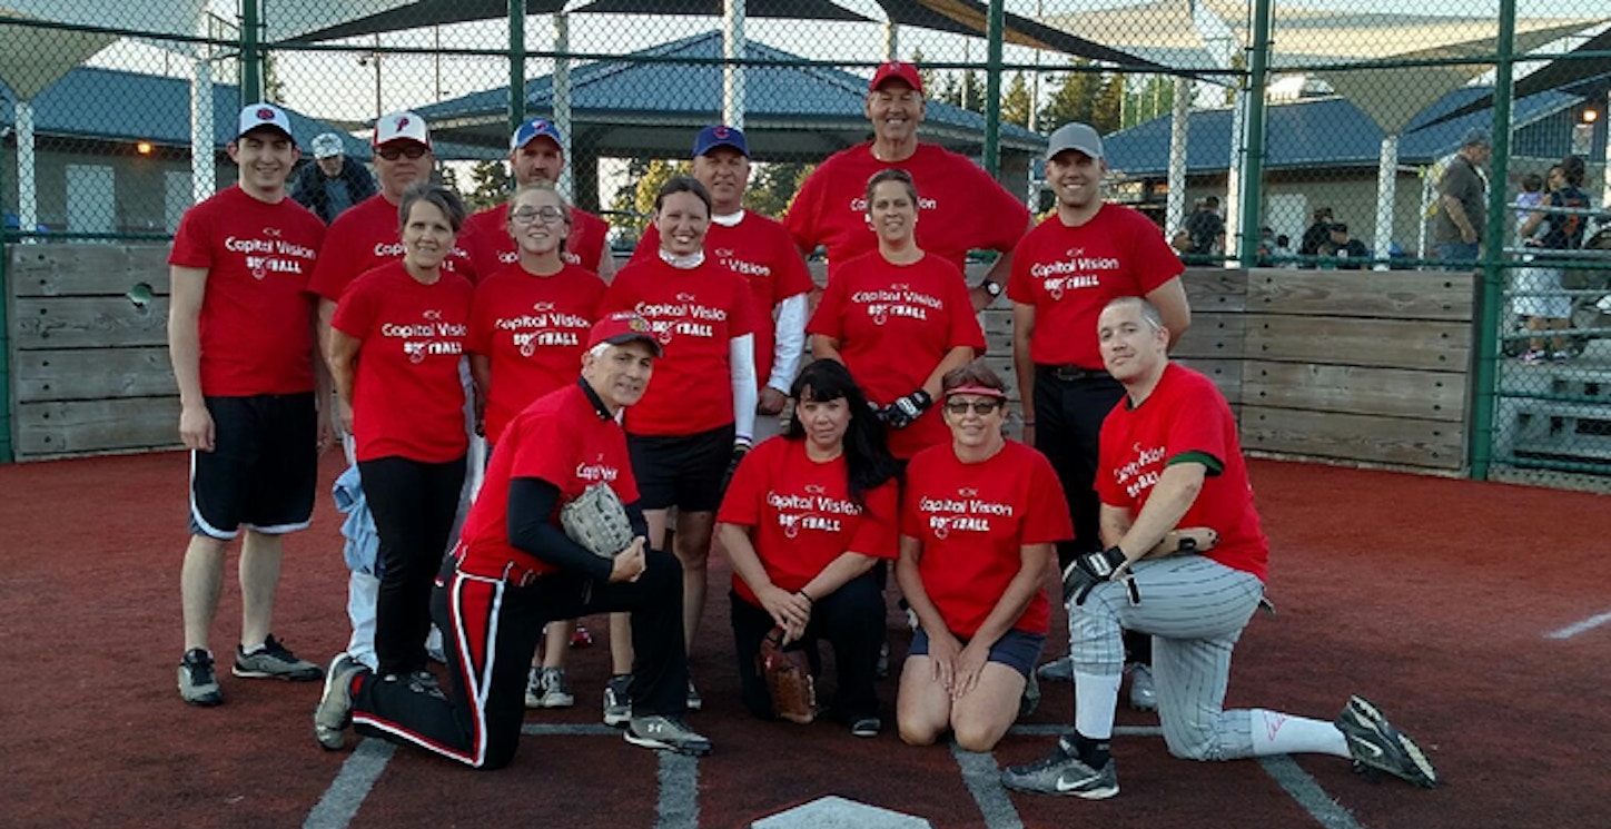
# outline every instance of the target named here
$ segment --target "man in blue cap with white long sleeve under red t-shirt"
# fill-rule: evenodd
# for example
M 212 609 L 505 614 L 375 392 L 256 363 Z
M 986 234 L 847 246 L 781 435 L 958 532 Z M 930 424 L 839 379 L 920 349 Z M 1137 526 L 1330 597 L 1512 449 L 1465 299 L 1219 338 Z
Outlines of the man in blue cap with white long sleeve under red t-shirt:
M 710 230 L 706 254 L 743 277 L 754 299 L 756 380 L 760 401 L 756 443 L 778 433 L 777 415 L 789 399 L 789 385 L 806 351 L 806 298 L 815 283 L 788 230 L 775 219 L 744 209 L 749 185 L 749 142 L 738 127 L 715 124 L 694 138 L 693 174 L 710 192 Z M 651 224 L 632 254 L 636 262 L 657 256 L 661 232 Z M 768 324 L 770 320 L 770 324 Z

